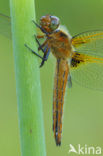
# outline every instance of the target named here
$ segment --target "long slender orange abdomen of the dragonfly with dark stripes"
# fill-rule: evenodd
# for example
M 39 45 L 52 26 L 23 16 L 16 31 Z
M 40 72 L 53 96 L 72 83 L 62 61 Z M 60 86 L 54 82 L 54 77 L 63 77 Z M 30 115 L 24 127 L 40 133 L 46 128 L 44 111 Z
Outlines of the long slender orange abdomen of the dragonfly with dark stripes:
M 53 131 L 57 145 L 61 144 L 62 114 L 68 73 L 68 61 L 57 59 L 53 93 Z

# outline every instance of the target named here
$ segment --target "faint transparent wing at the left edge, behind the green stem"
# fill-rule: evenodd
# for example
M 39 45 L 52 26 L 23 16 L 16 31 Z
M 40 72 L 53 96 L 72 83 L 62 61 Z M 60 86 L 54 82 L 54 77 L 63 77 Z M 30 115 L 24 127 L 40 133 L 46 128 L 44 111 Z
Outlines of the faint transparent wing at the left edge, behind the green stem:
M 0 34 L 11 39 L 11 20 L 10 17 L 0 13 Z

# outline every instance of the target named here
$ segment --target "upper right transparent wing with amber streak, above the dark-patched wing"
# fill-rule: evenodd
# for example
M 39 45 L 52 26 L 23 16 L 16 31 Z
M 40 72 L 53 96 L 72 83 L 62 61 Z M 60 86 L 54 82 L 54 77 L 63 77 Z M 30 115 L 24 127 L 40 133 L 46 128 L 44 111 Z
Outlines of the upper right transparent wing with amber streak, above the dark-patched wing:
M 72 38 L 75 51 L 103 57 L 103 30 L 80 33 Z

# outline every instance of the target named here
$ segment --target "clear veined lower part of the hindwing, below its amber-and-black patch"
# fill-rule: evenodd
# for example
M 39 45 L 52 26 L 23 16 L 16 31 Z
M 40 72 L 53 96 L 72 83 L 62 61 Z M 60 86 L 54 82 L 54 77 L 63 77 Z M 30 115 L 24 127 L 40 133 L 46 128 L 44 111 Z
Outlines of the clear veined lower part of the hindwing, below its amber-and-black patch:
M 76 69 L 71 68 L 71 77 L 79 85 L 103 91 L 102 63 L 87 63 Z

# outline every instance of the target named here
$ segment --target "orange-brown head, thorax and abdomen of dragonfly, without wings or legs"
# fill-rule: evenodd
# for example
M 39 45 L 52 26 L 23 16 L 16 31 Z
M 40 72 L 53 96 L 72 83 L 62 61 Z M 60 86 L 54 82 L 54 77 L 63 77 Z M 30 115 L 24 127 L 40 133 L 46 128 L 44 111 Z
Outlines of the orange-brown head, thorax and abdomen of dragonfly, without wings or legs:
M 68 58 L 70 58 L 72 55 L 72 46 L 69 35 L 62 30 L 52 30 L 50 24 L 53 20 L 57 22 L 58 27 L 58 18 L 50 15 L 43 16 L 41 18 L 41 26 L 46 30 L 46 32 L 49 32 L 47 34 L 45 44 L 48 45 L 48 48 L 51 48 L 51 52 L 57 60 L 53 91 L 53 132 L 56 144 L 60 145 L 64 95 L 69 74 Z M 48 25 L 46 25 L 46 23 Z M 43 44 L 43 46 L 45 46 L 45 44 Z

